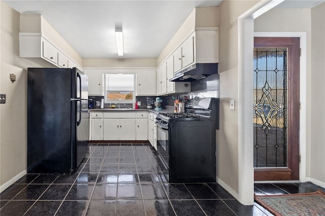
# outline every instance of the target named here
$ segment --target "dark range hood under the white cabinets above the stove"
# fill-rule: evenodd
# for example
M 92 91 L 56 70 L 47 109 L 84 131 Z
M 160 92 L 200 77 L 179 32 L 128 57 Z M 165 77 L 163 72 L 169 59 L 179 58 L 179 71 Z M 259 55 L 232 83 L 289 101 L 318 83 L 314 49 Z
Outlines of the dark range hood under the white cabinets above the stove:
M 218 63 L 196 63 L 186 67 L 170 79 L 172 82 L 190 82 L 218 74 Z

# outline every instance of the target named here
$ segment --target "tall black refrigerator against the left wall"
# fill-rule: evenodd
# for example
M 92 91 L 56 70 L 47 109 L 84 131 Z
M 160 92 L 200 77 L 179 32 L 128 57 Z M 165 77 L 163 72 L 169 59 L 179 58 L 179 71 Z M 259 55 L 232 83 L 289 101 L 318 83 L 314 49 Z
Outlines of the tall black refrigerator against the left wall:
M 73 172 L 89 141 L 87 75 L 28 68 L 27 107 L 27 173 Z

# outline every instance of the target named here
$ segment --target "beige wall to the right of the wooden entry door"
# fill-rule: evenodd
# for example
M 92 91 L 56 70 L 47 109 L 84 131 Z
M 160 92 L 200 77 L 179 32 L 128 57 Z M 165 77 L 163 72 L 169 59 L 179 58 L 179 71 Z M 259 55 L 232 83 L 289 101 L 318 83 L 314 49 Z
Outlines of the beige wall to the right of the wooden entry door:
M 325 186 L 325 3 L 311 9 L 310 177 Z

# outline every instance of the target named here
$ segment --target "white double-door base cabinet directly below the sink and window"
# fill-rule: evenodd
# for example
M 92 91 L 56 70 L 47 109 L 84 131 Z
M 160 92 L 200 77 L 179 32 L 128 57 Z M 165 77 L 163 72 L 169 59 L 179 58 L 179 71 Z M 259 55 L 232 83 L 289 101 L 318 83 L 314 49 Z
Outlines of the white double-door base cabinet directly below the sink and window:
M 104 119 L 104 140 L 135 140 L 135 119 Z

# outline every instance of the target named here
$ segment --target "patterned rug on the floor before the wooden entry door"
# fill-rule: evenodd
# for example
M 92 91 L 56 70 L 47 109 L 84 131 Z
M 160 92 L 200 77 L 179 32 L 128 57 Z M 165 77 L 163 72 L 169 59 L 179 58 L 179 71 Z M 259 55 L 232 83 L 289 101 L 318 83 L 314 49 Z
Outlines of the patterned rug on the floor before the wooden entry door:
M 257 203 L 276 216 L 325 215 L 325 193 L 254 195 Z

